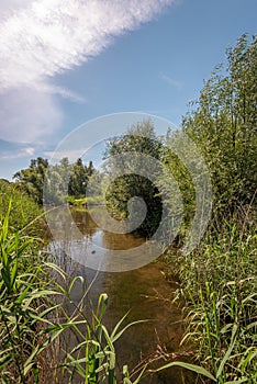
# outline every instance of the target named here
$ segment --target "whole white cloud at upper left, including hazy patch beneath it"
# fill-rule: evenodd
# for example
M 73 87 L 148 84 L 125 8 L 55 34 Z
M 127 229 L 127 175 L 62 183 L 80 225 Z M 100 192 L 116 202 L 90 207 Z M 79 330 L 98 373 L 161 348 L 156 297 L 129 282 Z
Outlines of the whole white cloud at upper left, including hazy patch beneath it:
M 15 134 L 15 139 L 30 142 L 49 134 L 60 120 L 52 94 L 83 101 L 55 84 L 54 77 L 98 55 L 114 36 L 175 1 L 1 0 L 0 92 L 7 94 L 0 100 L 5 101 L 0 137 L 13 139 Z

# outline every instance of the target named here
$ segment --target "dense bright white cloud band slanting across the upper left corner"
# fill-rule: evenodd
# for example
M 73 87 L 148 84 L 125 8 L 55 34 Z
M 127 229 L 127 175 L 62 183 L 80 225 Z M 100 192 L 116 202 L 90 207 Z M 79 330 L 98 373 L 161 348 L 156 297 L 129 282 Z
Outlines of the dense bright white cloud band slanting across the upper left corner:
M 174 0 L 37 0 L 0 25 L 0 86 L 38 84 L 98 55 Z

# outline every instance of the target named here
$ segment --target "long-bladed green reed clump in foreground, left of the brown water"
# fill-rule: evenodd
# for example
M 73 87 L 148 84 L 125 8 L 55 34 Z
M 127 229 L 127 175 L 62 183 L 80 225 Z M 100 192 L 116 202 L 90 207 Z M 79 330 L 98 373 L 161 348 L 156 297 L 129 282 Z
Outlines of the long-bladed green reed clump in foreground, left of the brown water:
M 82 278 L 75 278 L 70 283 L 70 287 L 80 279 L 83 283 Z M 69 291 L 66 291 L 68 300 L 71 297 Z M 72 302 L 72 301 L 71 301 Z M 68 372 L 69 382 L 72 382 L 75 374 L 78 374 L 83 383 L 87 384 L 97 384 L 97 383 L 108 383 L 116 384 L 116 352 L 114 343 L 122 337 L 122 335 L 133 325 L 142 323 L 142 320 L 131 323 L 124 328 L 121 328 L 122 323 L 124 321 L 126 315 L 115 325 L 111 332 L 108 331 L 107 327 L 103 324 L 104 313 L 108 305 L 107 294 L 101 294 L 98 300 L 97 310 L 91 308 L 91 320 L 85 315 L 85 308 L 79 307 L 76 303 L 72 302 L 76 309 L 72 314 L 72 318 L 65 313 L 65 317 L 68 319 L 68 323 L 72 332 L 77 336 L 77 339 L 80 340 L 70 351 L 65 351 L 65 360 L 62 364 L 63 372 Z M 60 325 L 59 328 L 65 328 L 66 324 Z M 139 377 L 143 375 L 145 368 L 142 370 L 137 380 L 131 382 L 128 380 L 127 366 L 123 368 L 123 383 L 136 384 L 138 383 Z

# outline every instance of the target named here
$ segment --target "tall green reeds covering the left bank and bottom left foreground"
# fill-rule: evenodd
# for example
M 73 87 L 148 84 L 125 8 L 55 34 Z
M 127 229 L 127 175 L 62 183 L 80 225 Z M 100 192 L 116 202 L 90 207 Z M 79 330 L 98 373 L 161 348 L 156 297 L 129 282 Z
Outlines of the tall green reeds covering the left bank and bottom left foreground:
M 40 251 L 38 239 L 10 226 L 11 218 L 9 201 L 0 217 L 0 382 L 72 383 L 80 377 L 85 384 L 118 383 L 115 341 L 141 321 L 121 328 L 124 316 L 109 331 L 103 321 L 107 295 L 101 294 L 90 312 L 83 304 L 88 290 L 75 303 L 72 286 L 78 280 L 86 286 L 83 279 L 76 276 L 70 282 L 62 268 Z M 71 348 L 65 342 L 67 330 L 75 336 Z M 133 384 L 125 364 L 121 380 Z

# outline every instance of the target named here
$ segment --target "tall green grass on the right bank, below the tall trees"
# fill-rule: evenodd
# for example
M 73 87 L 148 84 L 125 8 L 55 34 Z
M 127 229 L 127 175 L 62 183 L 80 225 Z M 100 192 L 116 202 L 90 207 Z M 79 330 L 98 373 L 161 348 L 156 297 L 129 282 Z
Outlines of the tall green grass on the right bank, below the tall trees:
M 249 211 L 213 221 L 199 248 L 177 260 L 188 324 L 182 342 L 195 347 L 201 365 L 187 368 L 203 383 L 257 383 L 257 234 Z

